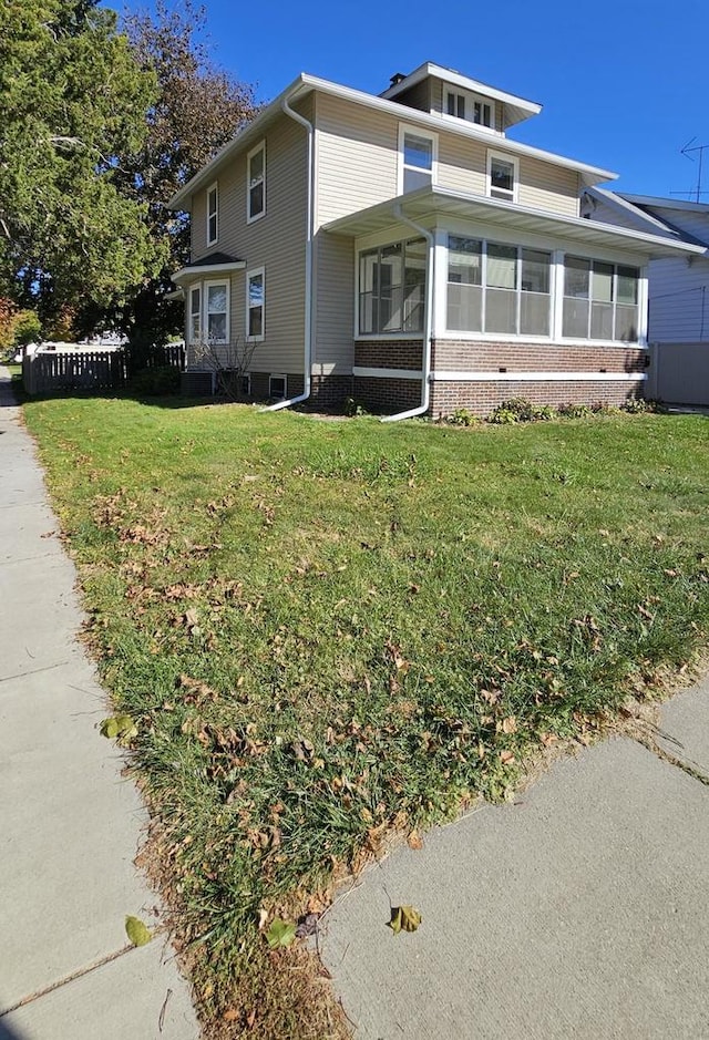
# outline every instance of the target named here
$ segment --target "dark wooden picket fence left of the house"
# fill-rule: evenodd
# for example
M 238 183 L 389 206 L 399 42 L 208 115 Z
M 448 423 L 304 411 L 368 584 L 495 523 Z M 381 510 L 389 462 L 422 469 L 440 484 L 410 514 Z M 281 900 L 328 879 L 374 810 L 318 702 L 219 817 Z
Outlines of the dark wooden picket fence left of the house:
M 22 382 L 29 394 L 79 390 L 120 390 L 142 369 L 185 367 L 185 344 L 167 343 L 150 350 L 48 350 L 22 361 Z

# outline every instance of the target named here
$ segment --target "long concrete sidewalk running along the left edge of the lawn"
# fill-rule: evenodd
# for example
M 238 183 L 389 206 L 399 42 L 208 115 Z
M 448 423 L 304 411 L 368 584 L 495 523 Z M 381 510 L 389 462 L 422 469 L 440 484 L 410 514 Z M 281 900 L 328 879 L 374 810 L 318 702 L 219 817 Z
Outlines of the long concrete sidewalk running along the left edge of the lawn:
M 0 368 L 0 1038 L 195 1040 L 189 988 L 136 871 L 146 813 L 99 735 L 74 567 Z

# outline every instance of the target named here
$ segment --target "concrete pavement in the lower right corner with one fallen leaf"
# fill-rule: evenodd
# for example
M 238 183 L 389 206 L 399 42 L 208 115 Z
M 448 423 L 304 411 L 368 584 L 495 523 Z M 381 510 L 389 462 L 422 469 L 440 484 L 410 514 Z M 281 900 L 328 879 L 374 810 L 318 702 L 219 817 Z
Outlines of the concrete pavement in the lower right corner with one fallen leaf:
M 627 739 L 559 760 L 336 902 L 319 949 L 358 1040 L 709 1037 L 709 682 L 660 729 L 674 762 Z

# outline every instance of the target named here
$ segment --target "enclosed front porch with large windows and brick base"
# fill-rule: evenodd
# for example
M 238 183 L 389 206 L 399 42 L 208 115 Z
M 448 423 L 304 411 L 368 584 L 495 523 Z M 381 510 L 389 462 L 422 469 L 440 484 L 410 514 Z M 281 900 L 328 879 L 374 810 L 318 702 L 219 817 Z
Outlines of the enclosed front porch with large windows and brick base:
M 659 236 L 424 187 L 328 225 L 353 239 L 354 392 L 489 411 L 641 393 Z M 689 247 L 691 251 L 692 247 Z

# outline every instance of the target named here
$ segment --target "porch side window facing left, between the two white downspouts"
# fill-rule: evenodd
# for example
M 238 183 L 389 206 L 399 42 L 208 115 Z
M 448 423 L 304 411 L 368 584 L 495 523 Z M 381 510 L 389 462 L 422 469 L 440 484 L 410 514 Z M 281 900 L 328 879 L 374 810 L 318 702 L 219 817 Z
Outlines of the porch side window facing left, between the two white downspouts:
M 420 332 L 425 300 L 427 245 L 423 238 L 379 246 L 360 254 L 359 332 Z

